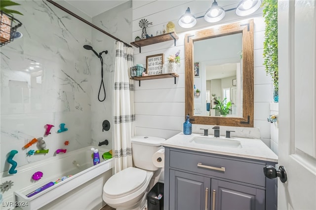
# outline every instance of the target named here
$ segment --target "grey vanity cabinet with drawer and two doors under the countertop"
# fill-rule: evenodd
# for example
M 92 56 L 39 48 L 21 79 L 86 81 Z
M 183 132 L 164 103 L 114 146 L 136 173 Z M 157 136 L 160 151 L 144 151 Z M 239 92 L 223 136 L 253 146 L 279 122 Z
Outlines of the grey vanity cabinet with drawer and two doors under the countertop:
M 274 164 L 165 147 L 164 210 L 276 210 Z

